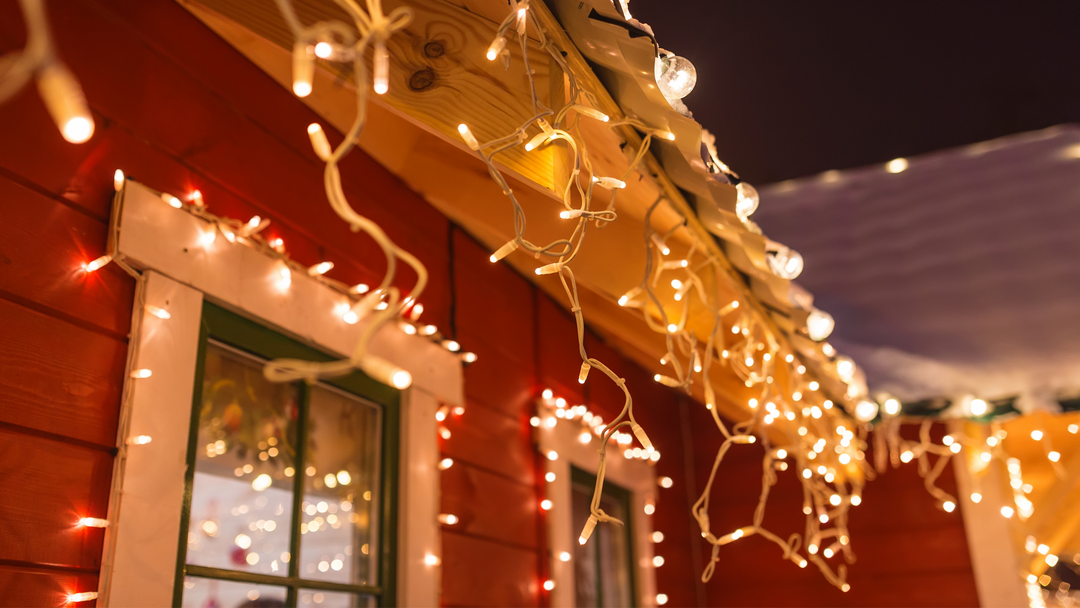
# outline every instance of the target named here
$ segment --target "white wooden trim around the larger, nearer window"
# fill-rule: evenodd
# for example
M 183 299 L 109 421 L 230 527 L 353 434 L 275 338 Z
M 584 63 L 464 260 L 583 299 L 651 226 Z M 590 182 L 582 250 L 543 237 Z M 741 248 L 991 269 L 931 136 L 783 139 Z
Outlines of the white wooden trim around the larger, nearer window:
M 199 237 L 210 225 L 172 208 L 159 194 L 129 180 L 120 213 L 117 253 L 143 270 L 136 289 L 121 432 L 109 504 L 99 597 L 103 606 L 171 606 L 176 580 L 180 505 L 194 390 L 202 305 L 210 299 L 305 342 L 348 353 L 363 328 L 335 314 L 340 294 L 294 273 L 284 293 L 276 286 L 279 262 L 225 239 L 208 247 Z M 113 226 L 117 229 L 117 226 Z M 145 306 L 166 309 L 161 320 Z M 401 606 L 436 606 L 438 568 L 438 448 L 435 411 L 463 405 L 460 360 L 427 339 L 388 328 L 375 336 L 370 352 L 413 375 L 402 395 L 399 481 L 397 585 Z M 342 354 L 342 356 L 346 356 Z M 149 435 L 146 445 L 127 437 Z

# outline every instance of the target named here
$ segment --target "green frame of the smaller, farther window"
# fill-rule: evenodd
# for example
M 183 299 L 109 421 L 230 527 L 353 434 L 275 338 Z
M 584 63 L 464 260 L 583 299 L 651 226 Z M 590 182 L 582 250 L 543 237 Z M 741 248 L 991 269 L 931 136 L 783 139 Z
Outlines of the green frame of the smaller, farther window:
M 575 495 L 579 495 L 581 497 L 589 497 L 591 499 L 593 494 L 593 488 L 596 487 L 596 475 L 589 473 L 577 467 L 570 465 L 570 484 L 571 484 L 571 489 L 570 489 L 571 500 L 573 500 Z M 638 603 L 637 580 L 636 580 L 637 562 L 634 558 L 634 517 L 633 517 L 633 500 L 632 500 L 633 494 L 626 488 L 623 488 L 622 486 L 612 484 L 610 481 L 605 481 L 604 489 L 602 490 L 600 496 L 605 501 L 610 501 L 612 503 L 619 504 L 619 506 L 622 510 L 622 514 L 624 515 L 623 518 L 624 525 L 606 526 L 603 529 L 600 529 L 600 527 L 598 526 L 597 527 L 598 533 L 594 532 L 593 536 L 594 540 L 591 541 L 590 543 L 586 543 L 585 545 L 579 545 L 577 542 L 577 538 L 575 538 L 573 539 L 575 552 L 579 556 L 583 553 L 591 554 L 591 557 L 594 560 L 594 566 L 593 566 L 595 568 L 594 571 L 596 572 L 595 598 L 597 602 L 597 606 L 604 606 L 606 600 L 604 597 L 603 583 L 605 580 L 617 579 L 617 577 L 611 577 L 609 573 L 605 572 L 605 565 L 610 567 L 610 566 L 617 566 L 617 564 L 612 564 L 610 560 L 604 559 L 602 557 L 602 551 L 599 550 L 598 545 L 600 542 L 603 542 L 602 538 L 605 535 L 620 535 L 622 537 L 622 542 L 626 548 L 625 560 L 623 562 L 622 565 L 626 568 L 625 572 L 626 586 L 627 586 L 626 592 L 630 599 L 630 604 L 627 606 L 630 608 L 633 608 L 636 607 Z M 608 510 L 608 512 L 609 514 L 613 514 L 610 512 L 610 510 Z M 572 529 L 580 530 L 581 525 L 583 524 L 584 522 L 581 522 L 580 524 L 576 522 Z M 577 584 L 578 582 L 577 570 L 575 570 L 575 579 L 576 579 L 575 584 Z M 575 599 L 577 600 L 577 598 Z

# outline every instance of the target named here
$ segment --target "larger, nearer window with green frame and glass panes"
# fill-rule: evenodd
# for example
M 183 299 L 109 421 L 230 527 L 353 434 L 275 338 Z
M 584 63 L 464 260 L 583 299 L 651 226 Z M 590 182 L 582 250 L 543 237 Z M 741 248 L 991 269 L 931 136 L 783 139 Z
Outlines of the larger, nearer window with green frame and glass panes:
M 401 393 L 278 357 L 333 359 L 203 306 L 173 605 L 392 606 Z

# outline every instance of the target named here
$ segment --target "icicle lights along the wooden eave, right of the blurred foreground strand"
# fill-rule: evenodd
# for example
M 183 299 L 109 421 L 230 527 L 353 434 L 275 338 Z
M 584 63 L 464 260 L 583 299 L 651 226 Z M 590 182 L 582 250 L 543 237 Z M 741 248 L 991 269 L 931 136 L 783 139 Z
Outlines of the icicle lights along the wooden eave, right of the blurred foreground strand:
M 536 32 L 536 44 L 540 48 L 540 50 L 549 53 L 552 60 L 559 68 L 562 68 L 562 71 L 568 78 L 569 100 L 564 107 L 557 110 L 544 107 L 537 97 L 537 86 L 534 82 L 531 70 L 529 69 L 529 40 L 524 36 L 524 19 L 522 17 L 525 15 L 531 17 L 530 23 L 532 24 Z M 515 25 L 516 29 L 513 28 Z M 536 272 L 539 275 L 557 274 L 569 300 L 570 310 L 575 315 L 578 328 L 578 346 L 582 360 L 579 381 L 585 380 L 589 370 L 596 368 L 613 381 L 625 395 L 624 405 L 619 416 L 610 423 L 603 425 L 603 430 L 600 431 L 602 442 L 598 450 L 599 461 L 597 464 L 596 486 L 594 488 L 593 500 L 590 505 L 590 517 L 579 539 L 580 542 L 584 543 L 588 542 L 593 528 L 598 523 L 621 523 L 599 509 L 599 498 L 603 491 L 607 447 L 609 443 L 615 441 L 618 445 L 622 444 L 623 441 L 629 442 L 632 436 L 636 436 L 638 442 L 643 445 L 644 449 L 642 449 L 642 452 L 649 454 L 652 450 L 652 446 L 647 434 L 645 433 L 645 430 L 642 429 L 642 427 L 634 419 L 633 400 L 625 387 L 624 380 L 612 374 L 602 362 L 590 357 L 585 351 L 583 335 L 584 320 L 578 298 L 577 281 L 575 280 L 573 271 L 570 265 L 581 249 L 585 229 L 590 221 L 595 222 L 596 227 L 600 228 L 605 224 L 618 219 L 615 211 L 618 193 L 625 187 L 630 175 L 645 158 L 652 138 L 662 137 L 671 140 L 674 139 L 674 135 L 667 131 L 651 129 L 635 119 L 612 120 L 612 118 L 606 113 L 594 110 L 591 108 L 591 105 L 586 105 L 584 103 L 586 95 L 580 89 L 575 73 L 567 68 L 562 53 L 558 52 L 554 44 L 546 38 L 543 28 L 536 18 L 536 15 L 528 12 L 527 1 L 512 2 L 510 14 L 508 14 L 507 18 L 500 24 L 494 37 L 491 46 L 488 49 L 489 59 L 495 60 L 502 57 L 503 65 L 509 66 L 510 51 L 507 43 L 508 38 L 513 33 L 517 33 L 518 36 L 525 73 L 529 81 L 531 106 L 535 116 L 525 121 L 514 132 L 489 141 L 480 141 L 467 124 L 461 124 L 458 131 L 465 145 L 480 154 L 481 159 L 487 165 L 488 173 L 499 187 L 502 188 L 503 193 L 507 195 L 512 206 L 514 218 L 514 238 L 491 255 L 491 261 L 494 262 L 503 259 L 516 248 L 525 249 L 536 257 L 548 256 L 557 258 L 557 261 L 541 266 Z M 568 122 L 567 117 L 571 110 L 575 111 L 575 117 L 572 121 Z M 580 139 L 579 121 L 581 120 L 581 117 L 585 117 L 589 120 L 600 121 L 606 123 L 608 126 L 631 125 L 644 134 L 640 147 L 636 150 L 630 164 L 621 175 L 611 177 L 599 176 L 594 173 L 584 141 Z M 565 188 L 561 192 L 564 210 L 559 215 L 563 219 L 573 220 L 575 224 L 571 232 L 565 239 L 555 240 L 546 244 L 536 244 L 527 240 L 525 235 L 525 213 L 513 191 L 510 189 L 507 180 L 495 165 L 495 159 L 500 153 L 522 145 L 524 145 L 526 152 L 549 145 L 564 145 L 567 148 L 567 152 L 570 154 L 570 162 L 568 163 L 568 179 L 566 180 Z M 610 190 L 611 192 L 609 203 L 603 210 L 596 210 L 592 204 L 593 193 L 597 187 Z M 839 447 L 840 442 L 846 441 L 851 448 L 848 450 L 850 454 L 846 452 L 848 461 L 852 462 L 854 460 L 855 462 L 861 463 L 863 457 L 860 446 L 862 446 L 862 444 L 852 444 L 850 438 L 846 440 L 841 436 L 841 433 L 829 433 L 826 431 L 827 429 L 835 428 L 837 425 L 837 421 L 851 424 L 850 419 L 846 416 L 842 408 L 829 410 L 831 405 L 826 405 L 826 403 L 831 404 L 832 402 L 824 401 L 823 395 L 814 392 L 819 386 L 818 382 L 812 378 L 802 375 L 804 368 L 791 354 L 788 354 L 785 359 L 785 364 L 789 368 L 788 377 L 791 379 L 789 383 L 792 384 L 789 388 L 791 392 L 786 394 L 793 395 L 793 398 L 791 400 L 792 402 L 802 401 L 802 403 L 808 406 L 812 405 L 813 409 L 808 407 L 805 411 L 796 410 L 795 408 L 786 405 L 788 401 L 784 398 L 779 383 L 774 383 L 772 377 L 773 370 L 778 365 L 780 344 L 772 335 L 770 328 L 767 327 L 758 316 L 740 311 L 741 314 L 733 324 L 737 333 L 737 339 L 734 339 L 732 343 L 726 348 L 727 344 L 724 335 L 725 317 L 739 309 L 739 301 L 718 301 L 718 297 L 715 294 L 708 293 L 699 276 L 699 273 L 706 269 L 713 272 L 721 270 L 718 264 L 719 260 L 707 255 L 707 248 L 703 246 L 699 242 L 697 235 L 690 231 L 687 231 L 691 242 L 690 249 L 686 253 L 683 259 L 675 264 L 658 262 L 656 259 L 657 255 L 671 255 L 672 251 L 669 243 L 672 240 L 672 235 L 677 230 L 684 228 L 687 224 L 684 219 L 681 222 L 676 224 L 674 227 L 665 231 L 658 231 L 653 229 L 651 226 L 652 213 L 661 203 L 664 202 L 663 197 L 658 198 L 646 214 L 644 242 L 647 257 L 645 276 L 639 285 L 632 288 L 626 295 L 619 299 L 619 303 L 623 307 L 640 309 L 646 324 L 652 330 L 664 335 L 667 352 L 663 357 L 663 362 L 665 365 L 671 365 L 672 373 L 671 375 L 657 375 L 656 379 L 658 382 L 664 383 L 669 387 L 684 389 L 689 392 L 691 384 L 696 381 L 693 375 L 700 374 L 701 381 L 704 386 L 706 406 L 712 411 L 717 428 L 726 437 L 725 444 L 717 455 L 716 463 L 713 470 L 713 477 L 711 477 L 708 487 L 706 488 L 705 494 L 703 494 L 702 499 L 700 499 L 694 505 L 694 516 L 699 519 L 699 523 L 702 526 L 703 536 L 706 540 L 714 544 L 714 557 L 716 556 L 716 552 L 721 544 L 727 544 L 743 536 L 756 533 L 777 542 L 783 550 L 785 558 L 791 559 L 800 567 L 805 567 L 807 565 L 807 560 L 797 553 L 801 541 L 801 537 L 799 535 L 793 535 L 787 540 L 783 540 L 769 530 L 762 528 L 760 525 L 761 519 L 764 518 L 765 503 L 768 498 L 769 487 L 775 483 L 777 473 L 773 468 L 773 459 L 767 456 L 764 462 L 765 474 L 762 479 L 762 492 L 758 510 L 755 515 L 754 525 L 740 528 L 740 532 L 738 535 L 721 537 L 724 539 L 723 542 L 720 542 L 720 539 L 717 539 L 712 535 L 707 523 L 708 492 L 712 488 L 712 482 L 715 478 L 716 468 L 730 445 L 754 443 L 756 441 L 754 435 L 755 432 L 760 432 L 762 436 L 767 436 L 762 431 L 764 425 L 771 423 L 774 418 L 779 418 L 781 415 L 783 415 L 787 421 L 798 420 L 800 423 L 808 424 L 814 429 L 813 434 L 805 433 L 802 435 L 796 435 L 791 431 L 791 429 L 794 429 L 794 424 L 791 425 L 788 434 L 792 437 L 791 449 L 793 450 L 793 454 L 809 452 L 811 451 L 810 446 L 820 445 L 818 442 L 821 441 L 829 444 L 828 447 Z M 675 212 L 678 213 L 677 210 L 675 210 Z M 701 253 L 696 256 L 699 251 Z M 680 272 L 678 287 L 676 287 L 677 292 L 675 294 L 675 300 L 679 302 L 680 310 L 675 316 L 670 316 L 667 308 L 663 306 L 654 292 L 654 288 L 659 284 L 661 273 L 664 271 Z M 704 338 L 704 343 L 702 343 L 701 340 L 699 340 L 698 337 L 686 327 L 686 321 L 690 316 L 691 302 L 700 302 L 701 306 L 704 306 L 708 310 L 710 315 L 713 319 L 713 328 L 708 333 L 708 336 Z M 718 354 L 720 356 L 717 356 Z M 770 405 L 773 405 L 772 402 L 769 401 L 771 398 L 777 403 L 783 404 L 784 411 L 781 413 L 777 409 L 775 417 L 773 417 L 771 413 L 762 414 L 767 410 L 766 408 L 760 408 L 754 413 L 754 418 L 752 420 L 737 427 L 734 432 L 729 431 L 719 418 L 716 407 L 715 390 L 713 389 L 710 380 L 710 369 L 714 359 L 720 359 L 721 361 L 727 359 L 732 370 L 743 379 L 747 387 L 762 387 L 762 403 L 768 402 Z M 798 373 L 796 373 L 797 367 L 799 368 Z M 809 388 L 810 382 L 814 383 L 815 389 Z M 794 396 L 795 393 L 797 393 L 798 396 Z M 802 397 L 804 394 L 807 395 L 806 398 Z M 546 396 L 548 395 L 545 395 L 545 397 Z M 828 411 L 828 415 L 823 416 L 823 411 Z M 812 423 L 807 422 L 807 419 L 812 419 Z M 551 420 L 554 421 L 554 419 Z M 544 422 L 539 418 L 536 419 L 537 425 L 541 423 Z M 629 433 L 625 432 L 627 430 L 630 431 Z M 823 437 L 825 436 L 829 438 L 824 440 Z M 623 437 L 625 437 L 625 440 L 623 440 Z M 840 450 L 838 449 L 836 451 Z M 633 454 L 633 450 L 627 449 L 626 454 Z M 818 451 L 814 451 L 815 457 L 818 454 Z M 832 460 L 836 458 L 837 454 L 833 452 L 829 452 L 829 456 L 827 457 L 820 458 L 819 462 L 829 461 L 832 467 L 823 467 L 823 472 L 819 474 L 811 474 L 808 478 L 801 478 L 808 501 L 818 508 L 816 510 L 810 510 L 807 514 L 806 536 L 808 538 L 831 538 L 832 536 L 842 536 L 843 538 L 848 537 L 846 527 L 847 509 L 849 505 L 856 503 L 858 501 L 841 499 L 840 504 L 838 505 L 829 503 L 832 496 L 847 497 L 851 494 L 847 489 L 848 482 L 843 481 L 848 477 L 848 475 L 840 470 L 840 464 L 832 462 Z M 802 463 L 808 460 L 808 457 L 802 457 L 800 455 L 798 460 Z M 854 464 L 856 469 L 860 467 L 858 463 Z M 786 463 L 784 463 L 784 465 L 786 467 Z M 861 491 L 862 478 L 859 477 L 858 473 L 854 475 L 854 479 L 851 483 L 858 486 L 858 490 L 854 491 Z M 833 484 L 835 484 L 835 486 Z M 858 494 L 854 494 L 853 496 L 858 496 Z M 825 505 L 828 506 L 826 508 Z M 822 530 L 821 526 L 826 522 L 832 522 L 833 527 L 828 530 Z M 850 549 L 847 544 L 842 545 L 841 552 L 848 555 L 849 558 L 852 558 Z M 848 584 L 845 581 L 845 566 L 839 566 L 836 573 L 834 573 L 833 569 L 824 562 L 824 559 L 815 555 L 812 556 L 812 558 L 833 584 L 845 591 L 848 589 Z M 712 560 L 710 566 L 706 568 L 704 573 L 704 578 L 706 580 L 711 577 L 713 568 L 715 568 L 715 564 L 716 559 Z

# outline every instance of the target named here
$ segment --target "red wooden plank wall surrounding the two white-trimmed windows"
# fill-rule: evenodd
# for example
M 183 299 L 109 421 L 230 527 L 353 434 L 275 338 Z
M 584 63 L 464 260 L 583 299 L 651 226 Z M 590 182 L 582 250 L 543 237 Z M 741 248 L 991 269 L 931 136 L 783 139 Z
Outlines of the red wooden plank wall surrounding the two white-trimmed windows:
M 305 133 L 318 117 L 186 11 L 168 0 L 49 8 L 97 131 L 82 146 L 63 141 L 32 86 L 0 106 L 0 606 L 58 606 L 65 593 L 96 589 L 100 531 L 73 524 L 106 510 L 133 282 L 113 266 L 92 275 L 78 268 L 105 248 L 114 168 L 177 195 L 199 188 L 221 215 L 270 217 L 294 258 L 329 259 L 343 281 L 372 282 L 384 264 L 324 202 Z M 0 53 L 24 41 L 16 4 L 0 4 Z M 599 375 L 575 382 L 575 327 L 561 302 L 488 264 L 488 252 L 364 153 L 350 154 L 342 173 L 357 210 L 432 271 L 426 319 L 448 328 L 455 311 L 457 337 L 480 355 L 465 373 L 469 407 L 441 440 L 456 461 L 443 476 L 444 509 L 461 518 L 442 536 L 442 602 L 544 605 L 532 400 L 551 387 L 610 419 L 622 396 Z M 675 479 L 653 516 L 665 537 L 658 589 L 669 605 L 974 603 L 959 515 L 935 512 L 910 469 L 866 492 L 853 523 L 862 559 L 850 595 L 754 539 L 725 553 L 716 580 L 702 584 L 704 549 L 688 509 L 715 449 L 707 413 L 596 336 L 588 344 L 626 378 L 663 454 L 658 474 Z M 737 485 L 753 484 L 759 464 L 741 454 L 727 465 L 735 485 L 725 486 L 724 501 L 744 518 L 757 490 Z M 782 484 L 778 517 L 797 514 L 797 487 Z

